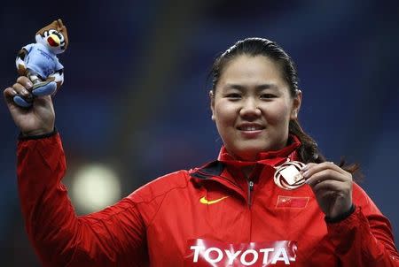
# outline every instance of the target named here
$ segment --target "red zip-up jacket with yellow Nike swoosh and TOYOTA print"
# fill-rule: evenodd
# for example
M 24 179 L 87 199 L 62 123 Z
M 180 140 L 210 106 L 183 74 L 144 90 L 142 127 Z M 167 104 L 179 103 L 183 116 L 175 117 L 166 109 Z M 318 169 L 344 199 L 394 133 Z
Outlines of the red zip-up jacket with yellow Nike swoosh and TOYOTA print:
M 355 211 L 327 223 L 310 187 L 280 189 L 274 165 L 296 139 L 262 153 L 250 184 L 222 149 L 217 161 L 173 172 L 106 210 L 76 217 L 61 179 L 59 134 L 21 140 L 20 202 L 44 266 L 399 266 L 391 226 L 354 184 Z M 251 186 L 250 186 L 251 185 Z

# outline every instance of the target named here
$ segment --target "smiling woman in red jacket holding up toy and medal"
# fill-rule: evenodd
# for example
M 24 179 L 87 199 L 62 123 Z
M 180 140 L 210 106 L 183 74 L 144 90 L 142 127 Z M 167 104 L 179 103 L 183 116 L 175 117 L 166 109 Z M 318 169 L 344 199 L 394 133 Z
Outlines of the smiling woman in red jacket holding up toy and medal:
M 353 166 L 325 162 L 303 133 L 293 61 L 249 38 L 216 58 L 212 119 L 223 139 L 214 162 L 170 173 L 113 207 L 76 217 L 51 97 L 29 111 L 4 97 L 20 127 L 18 177 L 27 233 L 45 266 L 398 266 L 392 230 L 352 182 Z M 306 164 L 294 190 L 276 185 L 287 161 Z M 280 185 L 281 186 L 281 185 Z

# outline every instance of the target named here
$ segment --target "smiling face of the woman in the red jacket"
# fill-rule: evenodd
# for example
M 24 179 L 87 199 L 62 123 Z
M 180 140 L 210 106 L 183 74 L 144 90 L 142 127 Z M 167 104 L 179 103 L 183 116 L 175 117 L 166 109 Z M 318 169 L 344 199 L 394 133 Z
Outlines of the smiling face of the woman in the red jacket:
M 284 148 L 289 121 L 301 105 L 301 92 L 292 97 L 279 66 L 263 56 L 232 59 L 210 96 L 212 119 L 224 146 L 242 160 Z

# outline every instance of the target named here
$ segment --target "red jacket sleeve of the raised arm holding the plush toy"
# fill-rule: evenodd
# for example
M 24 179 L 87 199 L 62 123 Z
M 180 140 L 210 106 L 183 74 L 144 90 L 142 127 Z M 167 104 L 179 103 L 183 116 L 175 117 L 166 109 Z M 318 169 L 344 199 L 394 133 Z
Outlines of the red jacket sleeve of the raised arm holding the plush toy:
M 76 217 L 61 184 L 66 159 L 59 133 L 20 140 L 17 171 L 27 234 L 44 266 L 145 265 L 140 197 L 133 193 L 106 210 Z

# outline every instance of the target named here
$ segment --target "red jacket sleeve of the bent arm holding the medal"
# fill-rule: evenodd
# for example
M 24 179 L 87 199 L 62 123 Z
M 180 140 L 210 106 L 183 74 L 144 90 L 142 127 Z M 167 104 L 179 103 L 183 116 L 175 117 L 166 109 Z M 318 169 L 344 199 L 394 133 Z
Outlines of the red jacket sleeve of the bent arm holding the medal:
M 338 223 L 327 223 L 340 266 L 399 266 L 391 225 L 362 188 L 354 184 L 356 210 Z

